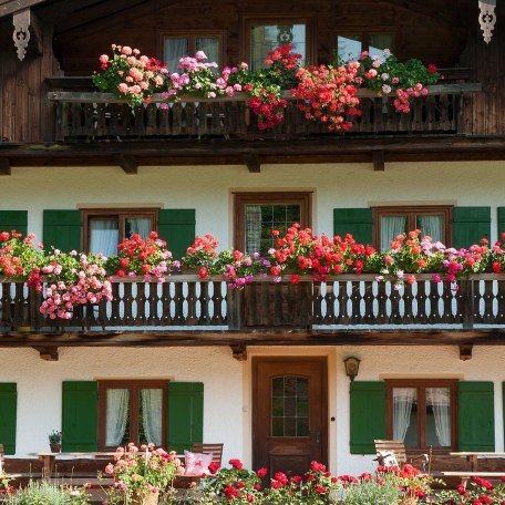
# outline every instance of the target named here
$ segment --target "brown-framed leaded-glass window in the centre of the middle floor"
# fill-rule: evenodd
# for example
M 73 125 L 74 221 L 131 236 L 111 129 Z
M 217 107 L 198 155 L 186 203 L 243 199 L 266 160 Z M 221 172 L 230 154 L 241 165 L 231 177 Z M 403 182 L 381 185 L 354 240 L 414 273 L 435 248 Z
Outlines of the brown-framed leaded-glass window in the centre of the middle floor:
M 310 226 L 310 193 L 244 193 L 235 195 L 235 247 L 266 256 L 271 231 L 284 234 L 299 223 Z

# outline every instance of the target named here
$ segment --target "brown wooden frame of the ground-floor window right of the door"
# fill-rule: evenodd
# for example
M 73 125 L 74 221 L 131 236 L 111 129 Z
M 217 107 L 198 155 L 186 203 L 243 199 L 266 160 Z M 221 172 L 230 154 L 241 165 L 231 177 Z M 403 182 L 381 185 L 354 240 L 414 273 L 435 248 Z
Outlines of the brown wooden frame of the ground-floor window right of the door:
M 393 389 L 416 388 L 418 390 L 418 446 L 408 446 L 412 452 L 426 452 L 430 450 L 425 444 L 426 433 L 426 388 L 449 388 L 451 398 L 451 446 L 433 447 L 434 452 L 449 453 L 457 449 L 457 379 L 387 379 L 385 381 L 387 413 L 385 426 L 387 439 L 393 439 Z M 420 392 L 423 391 L 422 394 Z M 419 415 L 419 413 L 423 413 Z

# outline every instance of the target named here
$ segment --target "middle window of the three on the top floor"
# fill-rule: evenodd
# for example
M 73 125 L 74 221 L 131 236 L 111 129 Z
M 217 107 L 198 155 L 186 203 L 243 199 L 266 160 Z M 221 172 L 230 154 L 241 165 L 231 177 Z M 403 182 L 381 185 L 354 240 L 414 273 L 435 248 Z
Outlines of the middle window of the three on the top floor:
M 310 25 L 305 19 L 255 19 L 245 22 L 245 60 L 251 70 L 265 66 L 268 51 L 291 44 L 292 51 L 301 54 L 301 62 L 313 61 L 309 44 Z

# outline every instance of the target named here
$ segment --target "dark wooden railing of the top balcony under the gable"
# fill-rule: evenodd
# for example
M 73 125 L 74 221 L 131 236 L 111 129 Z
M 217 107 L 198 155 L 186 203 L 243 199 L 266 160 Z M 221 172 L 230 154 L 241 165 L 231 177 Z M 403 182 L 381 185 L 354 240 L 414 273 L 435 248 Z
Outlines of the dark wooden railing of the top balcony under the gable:
M 481 84 L 475 83 L 430 86 L 426 96 L 413 101 L 410 114 L 395 111 L 394 95 L 359 90 L 362 113 L 350 117 L 353 127 L 347 135 L 463 133 L 464 95 L 480 90 Z M 56 141 L 328 135 L 324 125 L 305 118 L 289 92 L 285 92 L 285 120 L 267 132 L 258 130 L 243 93 L 218 100 L 182 97 L 168 109 L 159 106 L 164 101 L 161 95 L 133 109 L 110 93 L 54 91 L 48 97 L 54 102 Z

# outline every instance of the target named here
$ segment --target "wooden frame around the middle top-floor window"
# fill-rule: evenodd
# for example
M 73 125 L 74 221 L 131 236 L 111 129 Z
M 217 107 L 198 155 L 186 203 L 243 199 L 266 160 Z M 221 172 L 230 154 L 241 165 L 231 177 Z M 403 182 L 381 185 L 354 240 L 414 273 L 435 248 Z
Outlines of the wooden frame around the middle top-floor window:
M 297 14 L 244 14 L 240 19 L 240 58 L 250 65 L 250 29 L 254 24 L 305 24 L 306 25 L 306 64 L 316 65 L 317 40 L 316 18 L 312 13 L 301 12 Z

